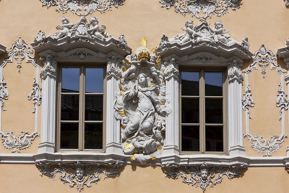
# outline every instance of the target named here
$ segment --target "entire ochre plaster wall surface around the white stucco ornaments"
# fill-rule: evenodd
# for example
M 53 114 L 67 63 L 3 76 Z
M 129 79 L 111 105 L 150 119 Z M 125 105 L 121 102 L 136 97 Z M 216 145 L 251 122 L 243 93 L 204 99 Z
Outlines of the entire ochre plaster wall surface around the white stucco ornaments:
M 276 55 L 277 49 L 284 47 L 289 37 L 287 20 L 289 10 L 284 1 L 242 0 L 242 3 L 240 9 L 233 11 L 229 8 L 229 13 L 220 18 L 214 15 L 208 19 L 208 23 L 214 26 L 215 21 L 221 20 L 224 29 L 229 31 L 229 35 L 233 39 L 242 42 L 246 36 L 249 38 L 251 52 L 254 53 L 264 43 L 266 49 L 272 50 Z M 73 15 L 69 11 L 66 14 L 56 12 L 55 6 L 49 9 L 42 8 L 41 2 L 38 0 L 1 0 L 0 13 L 0 21 L 2 21 L 0 43 L 7 49 L 20 36 L 28 44 L 33 42 L 38 30 L 44 31 L 46 36 L 59 32 L 55 27 L 61 24 L 62 16 L 68 17 L 70 23 L 79 21 L 79 16 Z M 119 34 L 124 34 L 128 45 L 134 50 L 140 45 L 142 36 L 147 38 L 147 47 L 151 48 L 158 46 L 163 33 L 168 38 L 182 33 L 181 26 L 185 26 L 188 19 L 192 19 L 194 25 L 201 23 L 190 15 L 184 17 L 175 13 L 173 7 L 169 10 L 161 8 L 161 4 L 157 0 L 126 0 L 124 5 L 119 6 L 118 9 L 112 7 L 112 11 L 104 14 L 94 12 L 92 16 L 98 18 L 100 25 L 106 25 L 106 31 L 114 38 L 117 39 Z M 86 18 L 89 19 L 90 15 Z M 5 54 L 2 54 L 2 57 L 3 55 Z M 42 64 L 38 54 L 35 56 L 37 62 Z M 1 130 L 3 132 L 13 131 L 15 136 L 20 135 L 21 131 L 34 132 L 33 102 L 28 101 L 27 96 L 33 88 L 36 67 L 31 63 L 26 63 L 25 60 L 21 64 L 23 66 L 21 73 L 18 73 L 17 62 L 14 59 L 12 63 L 7 63 L 3 68 L 9 97 L 5 101 L 7 111 L 2 111 Z M 242 68 L 247 69 L 249 64 L 252 62 L 244 61 Z M 279 59 L 277 64 L 280 64 L 285 70 L 283 59 Z M 279 108 L 275 104 L 281 79 L 276 70 L 270 70 L 270 66 L 266 68 L 265 77 L 262 78 L 260 66 L 258 66 L 258 70 L 253 70 L 249 75 L 250 88 L 255 102 L 255 107 L 250 108 L 252 119 L 249 120 L 249 126 L 252 135 L 270 139 L 273 135 L 281 135 Z M 284 85 L 286 84 L 284 83 Z M 243 93 L 245 89 L 245 84 L 243 84 Z M 288 93 L 287 86 L 284 90 Z M 41 112 L 41 106 L 39 112 Z M 243 111 L 244 133 L 246 132 L 245 115 L 246 112 Z M 38 133 L 40 133 L 41 113 L 38 117 Z M 286 134 L 288 134 L 287 111 L 285 112 Z M 39 142 L 40 137 L 35 138 L 29 148 L 21 150 L 22 154 L 37 153 Z M 264 155 L 253 150 L 247 138 L 244 138 L 244 146 L 248 156 Z M 282 147 L 272 155 L 286 156 L 287 146 L 288 138 L 285 139 Z M 11 150 L 0 145 L 0 153 L 11 153 Z M 12 190 L 14 192 L 77 192 L 75 188 L 69 188 L 68 184 L 63 184 L 58 179 L 59 175 L 55 177 L 55 181 L 46 176 L 40 177 L 40 172 L 34 165 L 0 164 L 0 171 L 4 174 L 1 175 L 0 181 L 5 184 L 1 186 L 1 192 L 11 192 Z M 168 179 L 164 175 L 160 167 L 127 165 L 119 177 L 99 181 L 97 185 L 93 184 L 91 188 L 85 187 L 84 190 L 86 192 L 201 192 L 199 187 L 194 188 L 182 183 L 181 179 Z M 270 183 L 268 183 L 268 179 L 270 179 Z M 285 167 L 252 167 L 245 169 L 242 177 L 234 178 L 232 181 L 224 177 L 221 184 L 214 188 L 207 188 L 206 192 L 286 192 L 289 188 L 286 183 L 288 180 L 289 175 Z M 16 181 L 17 185 L 15 185 Z

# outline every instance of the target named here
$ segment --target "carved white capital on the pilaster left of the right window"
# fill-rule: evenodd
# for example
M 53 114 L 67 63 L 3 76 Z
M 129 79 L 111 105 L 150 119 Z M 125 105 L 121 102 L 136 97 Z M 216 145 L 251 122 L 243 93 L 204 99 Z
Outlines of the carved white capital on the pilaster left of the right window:
M 171 57 L 165 60 L 164 64 L 166 66 L 164 70 L 165 80 L 174 77 L 175 79 L 179 79 L 179 59 L 177 57 Z

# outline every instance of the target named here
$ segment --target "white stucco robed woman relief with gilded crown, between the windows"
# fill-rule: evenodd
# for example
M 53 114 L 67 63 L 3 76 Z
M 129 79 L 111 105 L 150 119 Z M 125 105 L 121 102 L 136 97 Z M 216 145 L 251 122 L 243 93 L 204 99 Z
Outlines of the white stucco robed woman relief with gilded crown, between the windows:
M 121 121 L 121 144 L 124 154 L 146 164 L 162 153 L 166 115 L 171 113 L 166 97 L 165 67 L 153 47 L 141 47 L 123 60 L 121 81 L 116 90 L 114 115 Z

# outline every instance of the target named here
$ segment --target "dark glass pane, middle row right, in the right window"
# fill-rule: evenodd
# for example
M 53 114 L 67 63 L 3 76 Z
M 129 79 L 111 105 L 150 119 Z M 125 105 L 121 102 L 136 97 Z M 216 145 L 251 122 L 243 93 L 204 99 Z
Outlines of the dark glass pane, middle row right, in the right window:
M 223 123 L 223 99 L 205 99 L 206 123 Z

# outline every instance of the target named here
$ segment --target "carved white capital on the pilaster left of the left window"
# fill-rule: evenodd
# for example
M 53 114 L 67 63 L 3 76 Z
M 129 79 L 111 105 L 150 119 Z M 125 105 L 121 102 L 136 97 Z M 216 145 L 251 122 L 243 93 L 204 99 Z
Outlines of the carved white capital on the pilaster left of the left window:
M 55 78 L 57 59 L 58 56 L 54 53 L 47 53 L 40 57 L 40 61 L 42 61 L 44 65 L 40 72 L 41 79 L 45 79 L 47 76 Z

